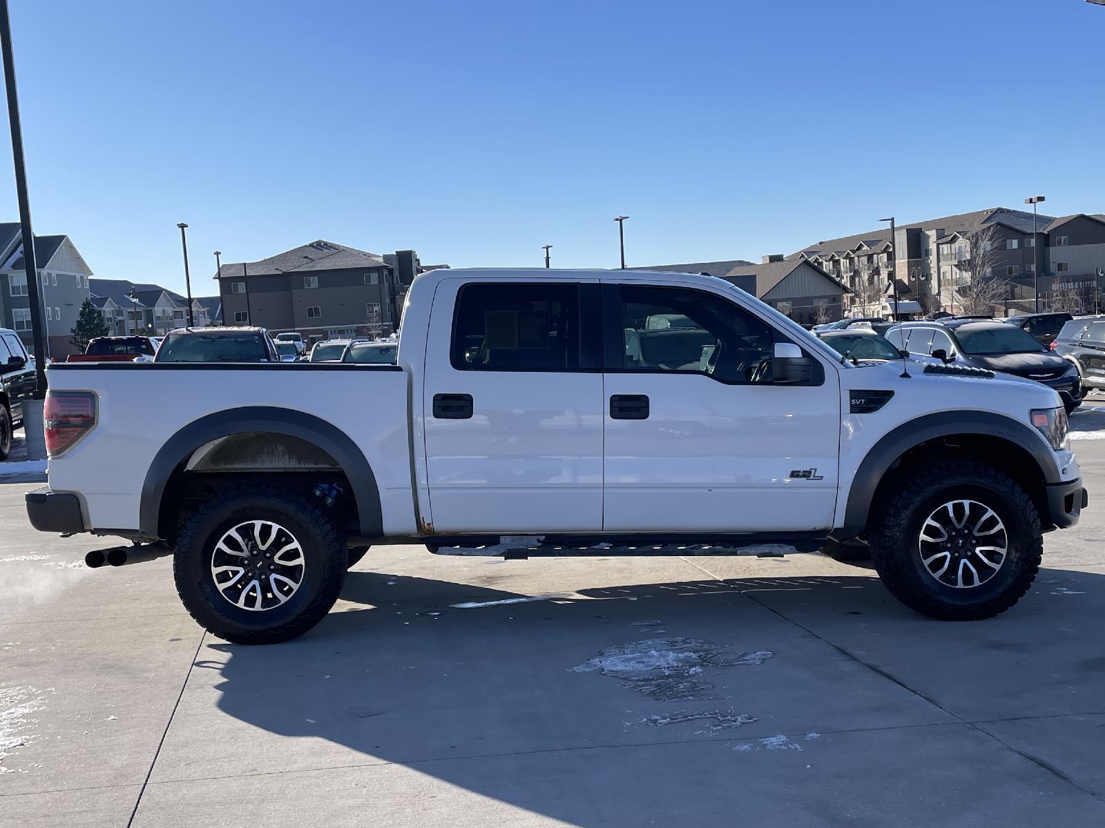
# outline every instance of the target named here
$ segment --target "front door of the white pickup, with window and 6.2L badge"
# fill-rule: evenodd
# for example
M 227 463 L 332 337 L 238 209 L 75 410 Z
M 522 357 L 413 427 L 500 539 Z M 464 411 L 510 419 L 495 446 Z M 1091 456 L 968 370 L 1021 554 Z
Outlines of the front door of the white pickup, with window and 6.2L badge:
M 719 294 L 604 284 L 602 298 L 603 529 L 830 529 L 835 371 L 815 363 L 808 384 L 772 384 L 787 335 Z

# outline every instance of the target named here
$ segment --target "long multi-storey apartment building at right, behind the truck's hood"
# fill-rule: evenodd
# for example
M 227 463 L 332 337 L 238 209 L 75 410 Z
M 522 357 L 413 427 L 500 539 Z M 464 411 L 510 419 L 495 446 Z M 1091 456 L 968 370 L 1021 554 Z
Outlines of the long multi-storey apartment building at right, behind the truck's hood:
M 1094 310 L 1105 282 L 1102 215 L 1033 216 L 1023 210 L 990 208 L 901 225 L 893 245 L 890 227 L 883 226 L 818 242 L 788 258 L 818 264 L 850 285 L 856 301 L 867 293 L 860 287 L 865 282 L 888 291 L 893 272 L 901 298 L 917 299 L 930 310 L 955 311 L 959 289 L 976 276 L 978 256 L 970 243 L 980 234 L 993 252 L 978 276 L 1008 280 L 1003 304 L 1010 312 L 1030 310 L 1034 304 L 1038 263 L 1042 307 L 1062 296 L 1066 302 L 1073 297 L 1086 312 Z

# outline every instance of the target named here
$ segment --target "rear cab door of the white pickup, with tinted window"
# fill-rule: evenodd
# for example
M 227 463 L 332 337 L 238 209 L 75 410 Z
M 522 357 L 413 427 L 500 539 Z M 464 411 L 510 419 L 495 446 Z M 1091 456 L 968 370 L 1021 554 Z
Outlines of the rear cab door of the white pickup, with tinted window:
M 433 531 L 602 527 L 599 285 L 444 279 L 421 401 Z

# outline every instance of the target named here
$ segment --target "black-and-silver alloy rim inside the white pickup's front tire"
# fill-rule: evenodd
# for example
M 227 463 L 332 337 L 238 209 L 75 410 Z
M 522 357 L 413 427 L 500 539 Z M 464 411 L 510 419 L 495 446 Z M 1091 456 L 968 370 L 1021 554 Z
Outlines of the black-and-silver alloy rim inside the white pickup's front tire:
M 951 500 L 928 516 L 917 545 L 929 575 L 945 586 L 969 590 L 1001 569 L 1009 534 L 990 507 L 976 500 Z

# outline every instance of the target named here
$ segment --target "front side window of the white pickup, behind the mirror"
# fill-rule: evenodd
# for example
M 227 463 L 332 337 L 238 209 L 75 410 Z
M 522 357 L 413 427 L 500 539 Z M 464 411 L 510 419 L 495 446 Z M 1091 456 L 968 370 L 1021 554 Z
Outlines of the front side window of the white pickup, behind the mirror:
M 719 296 L 677 287 L 621 287 L 621 368 L 769 382 L 771 329 Z

